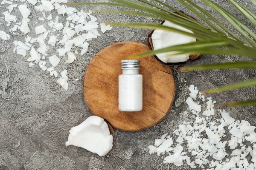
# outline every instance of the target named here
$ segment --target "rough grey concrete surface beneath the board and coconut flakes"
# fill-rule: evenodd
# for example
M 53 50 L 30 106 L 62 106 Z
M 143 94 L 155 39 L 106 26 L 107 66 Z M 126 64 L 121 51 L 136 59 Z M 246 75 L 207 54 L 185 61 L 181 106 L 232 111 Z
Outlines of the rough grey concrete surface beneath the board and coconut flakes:
M 96 0 L 95 0 L 96 1 Z M 107 1 L 107 0 L 106 0 Z M 191 14 L 175 0 L 165 0 L 169 5 Z M 240 0 L 241 1 L 241 0 Z M 70 2 L 70 1 L 69 1 Z M 78 2 L 74 0 L 73 2 Z M 214 17 L 224 21 L 200 0 L 195 2 L 206 8 Z M 255 28 L 241 17 L 225 0 L 215 0 L 227 8 L 241 21 L 255 31 Z M 242 1 L 250 10 L 256 12 L 250 0 Z M 18 2 L 20 4 L 20 2 Z M 97 9 L 99 7 L 77 7 L 78 9 Z M 112 8 L 112 7 L 103 7 Z M 6 5 L 0 5 L 0 11 L 6 11 Z M 14 14 L 18 15 L 17 8 Z M 95 14 L 99 22 L 158 22 L 143 17 L 131 17 L 122 14 Z M 3 17 L 3 14 L 1 14 Z M 19 16 L 20 17 L 20 16 Z M 38 17 L 36 14 L 30 17 Z M 53 17 L 54 18 L 54 17 Z M 4 19 L 0 30 L 9 32 Z M 229 28 L 227 22 L 224 22 Z M 32 29 L 33 26 L 31 26 Z M 233 28 L 230 28 L 233 30 Z M 184 165 L 176 167 L 163 164 L 163 156 L 149 155 L 148 145 L 162 134 L 172 132 L 178 123 L 189 117 L 181 117 L 180 113 L 187 109 L 184 102 L 187 98 L 187 87 L 191 84 L 200 90 L 214 88 L 220 85 L 246 80 L 255 77 L 255 70 L 222 70 L 222 71 L 192 71 L 177 73 L 177 95 L 175 103 L 166 118 L 155 125 L 139 132 L 113 133 L 113 149 L 105 157 L 99 157 L 79 147 L 65 147 L 65 142 L 71 127 L 84 121 L 92 113 L 84 103 L 82 95 L 82 78 L 84 70 L 93 55 L 102 48 L 121 41 L 136 41 L 146 43 L 149 30 L 136 28 L 114 27 L 112 31 L 90 42 L 88 52 L 79 57 L 77 62 L 68 65 L 68 91 L 64 91 L 56 79 L 39 67 L 28 67 L 26 57 L 13 54 L 14 40 L 24 40 L 24 35 L 17 32 L 10 40 L 0 40 L 0 170 L 184 170 L 190 169 Z M 209 62 L 238 61 L 237 56 L 205 55 L 200 60 L 187 62 L 186 65 Z M 62 61 L 60 67 L 64 67 Z M 75 81 L 79 79 L 79 81 Z M 186 80 L 186 82 L 184 82 Z M 244 88 L 211 96 L 218 103 L 235 100 L 251 99 L 256 94 L 256 88 Z M 256 107 L 227 108 L 236 119 L 248 120 L 256 125 Z M 198 168 L 199 169 L 199 168 Z

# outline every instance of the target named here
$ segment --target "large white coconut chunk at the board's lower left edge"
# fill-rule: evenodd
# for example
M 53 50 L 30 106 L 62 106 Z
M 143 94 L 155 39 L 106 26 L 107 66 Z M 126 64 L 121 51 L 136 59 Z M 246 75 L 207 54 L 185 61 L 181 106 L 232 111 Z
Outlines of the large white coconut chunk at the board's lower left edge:
M 80 125 L 72 127 L 69 132 L 66 146 L 72 144 L 82 147 L 99 156 L 105 156 L 112 149 L 113 136 L 108 124 L 98 116 L 88 117 Z

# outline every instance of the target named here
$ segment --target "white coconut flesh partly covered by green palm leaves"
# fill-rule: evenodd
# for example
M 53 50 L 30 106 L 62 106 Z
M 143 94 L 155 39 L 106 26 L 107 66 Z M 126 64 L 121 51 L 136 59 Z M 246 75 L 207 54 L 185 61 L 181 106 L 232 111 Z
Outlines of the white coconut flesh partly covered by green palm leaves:
M 178 26 L 174 23 L 171 23 L 169 21 L 165 21 L 163 23 L 163 26 L 169 26 L 172 28 L 177 28 L 182 31 L 193 33 L 192 31 L 186 28 L 183 28 L 181 26 Z M 196 39 L 194 37 L 189 37 L 176 32 L 165 31 L 161 29 L 154 30 L 153 34 L 151 35 L 151 39 L 152 39 L 154 50 L 158 50 L 161 48 L 174 46 L 174 45 L 186 44 L 189 42 L 196 42 Z M 179 51 L 160 53 L 160 54 L 156 54 L 156 56 L 158 59 L 160 59 L 162 62 L 165 62 L 165 63 L 186 62 L 189 59 L 190 54 L 172 55 L 172 54 L 176 54 L 177 52 Z

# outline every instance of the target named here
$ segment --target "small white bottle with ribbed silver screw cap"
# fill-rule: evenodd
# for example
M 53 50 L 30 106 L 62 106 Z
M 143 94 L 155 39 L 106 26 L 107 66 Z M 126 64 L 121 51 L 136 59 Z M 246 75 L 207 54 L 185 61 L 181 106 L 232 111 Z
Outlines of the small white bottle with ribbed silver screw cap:
M 142 75 L 140 60 L 122 60 L 119 75 L 119 111 L 142 111 Z

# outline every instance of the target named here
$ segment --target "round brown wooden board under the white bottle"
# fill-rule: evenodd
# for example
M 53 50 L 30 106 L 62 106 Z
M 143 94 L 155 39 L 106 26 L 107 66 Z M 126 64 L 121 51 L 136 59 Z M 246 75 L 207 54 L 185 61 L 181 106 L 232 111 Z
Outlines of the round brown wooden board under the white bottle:
M 155 57 L 140 57 L 143 75 L 143 110 L 118 110 L 118 76 L 122 74 L 121 60 L 148 51 L 138 42 L 119 42 L 99 51 L 84 73 L 83 94 L 90 111 L 108 120 L 116 129 L 138 131 L 160 122 L 171 109 L 175 96 L 172 68 Z

